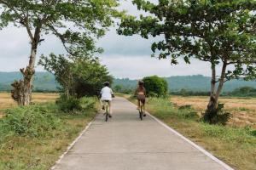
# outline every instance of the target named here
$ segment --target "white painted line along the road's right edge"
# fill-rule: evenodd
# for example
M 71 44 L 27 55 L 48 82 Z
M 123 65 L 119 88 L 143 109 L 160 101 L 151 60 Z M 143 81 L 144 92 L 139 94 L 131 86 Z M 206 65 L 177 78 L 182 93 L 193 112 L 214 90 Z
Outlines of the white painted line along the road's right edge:
M 125 98 L 124 98 L 125 99 Z M 127 101 L 129 101 L 128 99 L 125 99 Z M 134 103 L 132 103 L 131 101 L 129 101 L 132 105 L 135 105 Z M 135 105 L 137 107 L 137 105 Z M 172 133 L 175 133 L 178 137 L 180 137 L 181 139 L 185 140 L 186 142 L 188 142 L 189 144 L 191 144 L 192 146 L 194 146 L 197 150 L 200 150 L 203 154 L 205 154 L 206 156 L 210 157 L 213 161 L 218 162 L 218 164 L 220 164 L 221 166 L 223 166 L 226 170 L 234 170 L 234 168 L 230 167 L 229 165 L 227 165 L 226 163 L 224 163 L 224 161 L 219 160 L 217 157 L 212 156 L 212 154 L 210 152 L 208 152 L 207 150 L 204 150 L 201 146 L 195 144 L 194 142 L 192 142 L 191 140 L 187 139 L 186 137 L 184 137 L 181 133 L 178 133 L 176 130 L 174 130 L 172 127 L 169 127 L 168 125 L 166 125 L 166 123 L 161 122 L 158 118 L 156 118 L 155 116 L 151 115 L 148 111 L 146 111 L 146 113 L 151 116 L 151 118 L 154 119 L 154 121 L 159 122 L 163 127 L 166 127 L 167 130 L 171 131 Z

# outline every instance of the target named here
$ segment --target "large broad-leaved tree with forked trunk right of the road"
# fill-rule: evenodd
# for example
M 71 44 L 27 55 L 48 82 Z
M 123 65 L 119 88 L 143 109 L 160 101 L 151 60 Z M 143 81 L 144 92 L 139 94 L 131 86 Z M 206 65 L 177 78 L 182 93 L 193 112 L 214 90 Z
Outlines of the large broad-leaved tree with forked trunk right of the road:
M 119 34 L 164 37 L 152 44 L 159 58 L 170 56 L 172 64 L 182 57 L 189 64 L 195 58 L 209 62 L 211 95 L 206 117 L 218 111 L 224 82 L 240 77 L 255 79 L 256 2 L 254 0 L 159 0 L 158 4 L 134 0 L 138 9 L 150 15 L 122 20 Z M 220 75 L 217 67 L 221 67 Z

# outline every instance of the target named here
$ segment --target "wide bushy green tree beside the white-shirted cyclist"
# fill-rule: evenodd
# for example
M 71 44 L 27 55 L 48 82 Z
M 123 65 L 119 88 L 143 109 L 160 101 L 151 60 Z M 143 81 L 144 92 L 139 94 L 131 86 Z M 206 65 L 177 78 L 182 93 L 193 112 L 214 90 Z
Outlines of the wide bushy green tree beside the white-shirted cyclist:
M 113 82 L 108 69 L 98 59 L 86 56 L 50 54 L 41 56 L 39 65 L 55 75 L 67 99 L 99 95 L 103 82 Z

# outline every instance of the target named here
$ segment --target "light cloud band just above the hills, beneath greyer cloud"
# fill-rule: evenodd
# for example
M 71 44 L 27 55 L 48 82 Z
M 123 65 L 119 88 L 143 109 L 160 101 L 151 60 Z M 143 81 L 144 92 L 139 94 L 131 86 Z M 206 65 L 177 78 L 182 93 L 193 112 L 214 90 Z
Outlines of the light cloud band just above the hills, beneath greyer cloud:
M 158 75 L 160 77 L 197 75 L 210 76 L 210 65 L 205 62 L 192 60 L 187 65 L 182 59 L 179 65 L 171 65 L 168 59 L 151 58 L 144 56 L 102 56 L 101 62 L 106 65 L 114 77 L 140 79 L 147 76 Z

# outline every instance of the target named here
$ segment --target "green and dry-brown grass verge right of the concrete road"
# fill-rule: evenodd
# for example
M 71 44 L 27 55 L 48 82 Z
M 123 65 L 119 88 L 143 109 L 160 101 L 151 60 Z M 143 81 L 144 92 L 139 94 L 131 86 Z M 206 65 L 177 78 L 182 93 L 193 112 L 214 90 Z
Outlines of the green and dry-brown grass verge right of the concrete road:
M 131 101 L 136 102 L 135 99 Z M 255 170 L 256 131 L 251 127 L 224 127 L 200 122 L 189 105 L 177 107 L 169 99 L 148 99 L 146 110 L 187 138 L 212 152 L 231 167 Z

